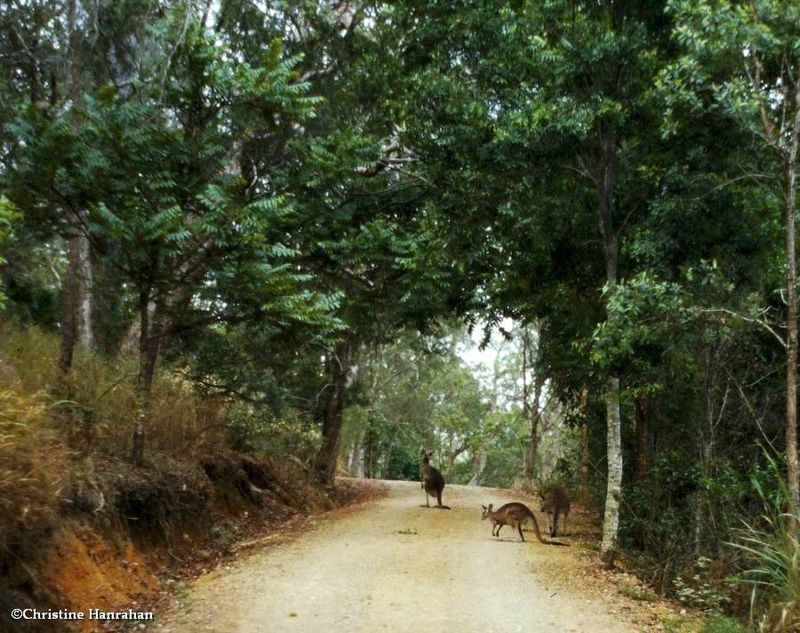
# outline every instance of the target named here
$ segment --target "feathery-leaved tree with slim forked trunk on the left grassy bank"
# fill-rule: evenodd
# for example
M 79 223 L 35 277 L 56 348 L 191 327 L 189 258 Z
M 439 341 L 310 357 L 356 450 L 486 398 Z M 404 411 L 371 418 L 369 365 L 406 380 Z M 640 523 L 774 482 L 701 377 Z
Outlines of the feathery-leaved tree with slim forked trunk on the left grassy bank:
M 38 179 L 29 190 L 53 187 L 72 208 L 89 209 L 97 248 L 130 284 L 140 330 L 136 463 L 168 337 L 218 321 L 234 299 L 251 318 L 301 321 L 335 303 L 287 267 L 296 254 L 281 243 L 290 206 L 270 174 L 234 168 L 254 131 L 272 134 L 270 151 L 282 153 L 284 131 L 312 116 L 318 99 L 294 80 L 298 60 L 284 58 L 279 41 L 259 64 L 234 65 L 203 19 L 179 6 L 152 28 L 151 46 L 171 54 L 143 60 L 131 89 L 103 87 L 63 117 L 30 104 L 15 123 L 24 140 L 15 177 Z M 263 154 L 253 159 L 269 164 Z

